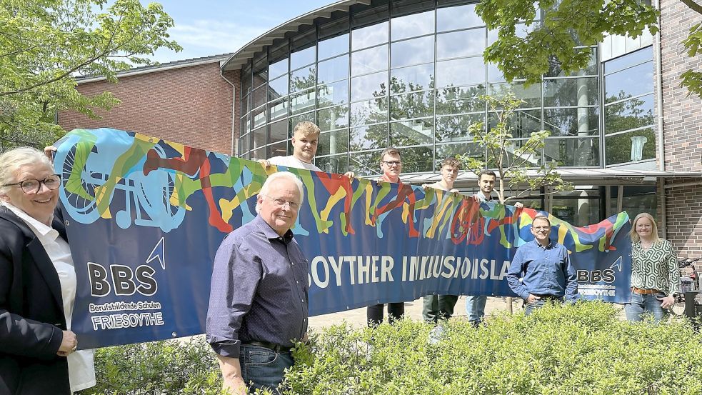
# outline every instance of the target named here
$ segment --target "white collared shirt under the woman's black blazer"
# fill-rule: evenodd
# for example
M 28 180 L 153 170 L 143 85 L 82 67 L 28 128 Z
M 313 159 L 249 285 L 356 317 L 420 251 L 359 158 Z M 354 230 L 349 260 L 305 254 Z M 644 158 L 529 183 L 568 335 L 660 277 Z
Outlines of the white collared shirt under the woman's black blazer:
M 59 274 L 59 282 L 61 284 L 61 300 L 64 304 L 64 318 L 66 319 L 66 328 L 71 329 L 71 316 L 73 316 L 74 301 L 76 300 L 76 269 L 74 268 L 73 256 L 69 244 L 59 236 L 59 231 L 42 224 L 40 221 L 32 218 L 21 209 L 12 204 L 3 201 L 2 204 L 12 211 L 16 216 L 24 221 L 29 229 L 34 232 L 34 235 L 44 246 L 46 255 L 49 256 L 51 262 L 56 268 L 56 273 Z M 79 339 L 80 341 L 80 339 Z M 94 350 L 80 350 L 69 354 L 67 357 L 69 363 L 69 381 L 71 383 L 71 391 L 80 391 L 81 389 L 90 388 L 95 383 L 95 364 L 93 361 Z

